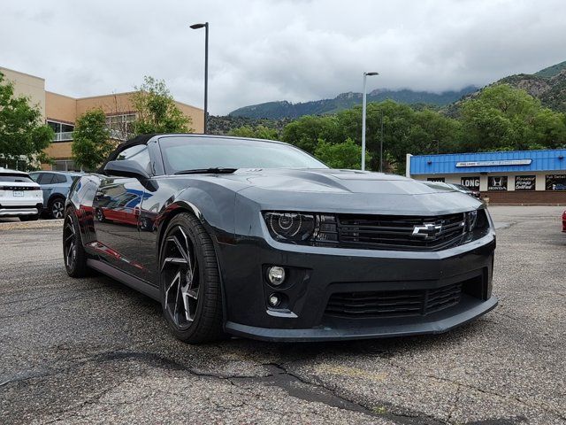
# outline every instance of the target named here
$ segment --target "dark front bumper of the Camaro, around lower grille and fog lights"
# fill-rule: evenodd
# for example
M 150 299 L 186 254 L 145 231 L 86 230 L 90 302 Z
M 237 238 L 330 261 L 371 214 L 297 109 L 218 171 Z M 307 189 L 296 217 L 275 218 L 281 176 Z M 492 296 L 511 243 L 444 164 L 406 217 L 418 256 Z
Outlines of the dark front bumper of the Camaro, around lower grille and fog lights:
M 269 341 L 328 341 L 441 333 L 492 310 L 495 236 L 445 251 L 371 251 L 288 245 L 258 237 L 218 243 L 226 332 Z M 286 267 L 275 288 L 266 267 Z M 386 317 L 329 313 L 333 294 L 438 290 L 462 283 L 459 302 L 438 312 Z M 286 302 L 270 308 L 277 292 Z

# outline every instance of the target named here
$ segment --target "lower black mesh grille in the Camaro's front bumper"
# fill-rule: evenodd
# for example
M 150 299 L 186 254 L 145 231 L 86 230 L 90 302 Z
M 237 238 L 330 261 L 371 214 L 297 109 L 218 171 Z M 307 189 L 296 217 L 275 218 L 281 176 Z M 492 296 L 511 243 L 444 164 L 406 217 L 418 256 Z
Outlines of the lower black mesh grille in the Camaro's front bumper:
M 350 318 L 426 315 L 458 304 L 461 297 L 462 282 L 432 290 L 343 292 L 330 297 L 325 314 Z

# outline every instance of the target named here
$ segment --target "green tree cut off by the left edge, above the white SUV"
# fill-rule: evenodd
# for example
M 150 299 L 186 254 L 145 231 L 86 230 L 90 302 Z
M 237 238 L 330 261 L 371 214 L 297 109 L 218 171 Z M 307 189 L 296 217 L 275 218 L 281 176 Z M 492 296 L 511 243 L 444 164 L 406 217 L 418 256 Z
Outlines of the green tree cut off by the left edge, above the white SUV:
M 39 166 L 49 160 L 43 150 L 53 135 L 40 109 L 27 97 L 14 97 L 13 84 L 0 73 L 0 157 L 10 162 L 25 157 L 30 166 Z

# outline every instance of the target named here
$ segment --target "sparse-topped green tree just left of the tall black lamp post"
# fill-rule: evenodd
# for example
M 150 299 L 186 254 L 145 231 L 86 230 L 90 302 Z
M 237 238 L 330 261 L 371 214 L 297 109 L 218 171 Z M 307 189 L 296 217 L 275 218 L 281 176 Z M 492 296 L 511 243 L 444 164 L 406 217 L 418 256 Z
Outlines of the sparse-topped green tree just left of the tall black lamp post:
M 165 82 L 144 76 L 142 86 L 130 97 L 136 113 L 135 135 L 190 133 L 191 119 L 180 112 Z

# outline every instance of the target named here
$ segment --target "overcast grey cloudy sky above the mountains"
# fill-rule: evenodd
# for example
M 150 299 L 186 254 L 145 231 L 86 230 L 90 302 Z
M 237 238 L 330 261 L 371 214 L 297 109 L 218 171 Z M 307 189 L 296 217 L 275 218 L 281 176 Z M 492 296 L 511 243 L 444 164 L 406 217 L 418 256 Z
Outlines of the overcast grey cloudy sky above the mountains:
M 143 75 L 209 109 L 370 89 L 439 92 L 566 60 L 563 0 L 4 1 L 0 66 L 73 97 L 129 91 Z

